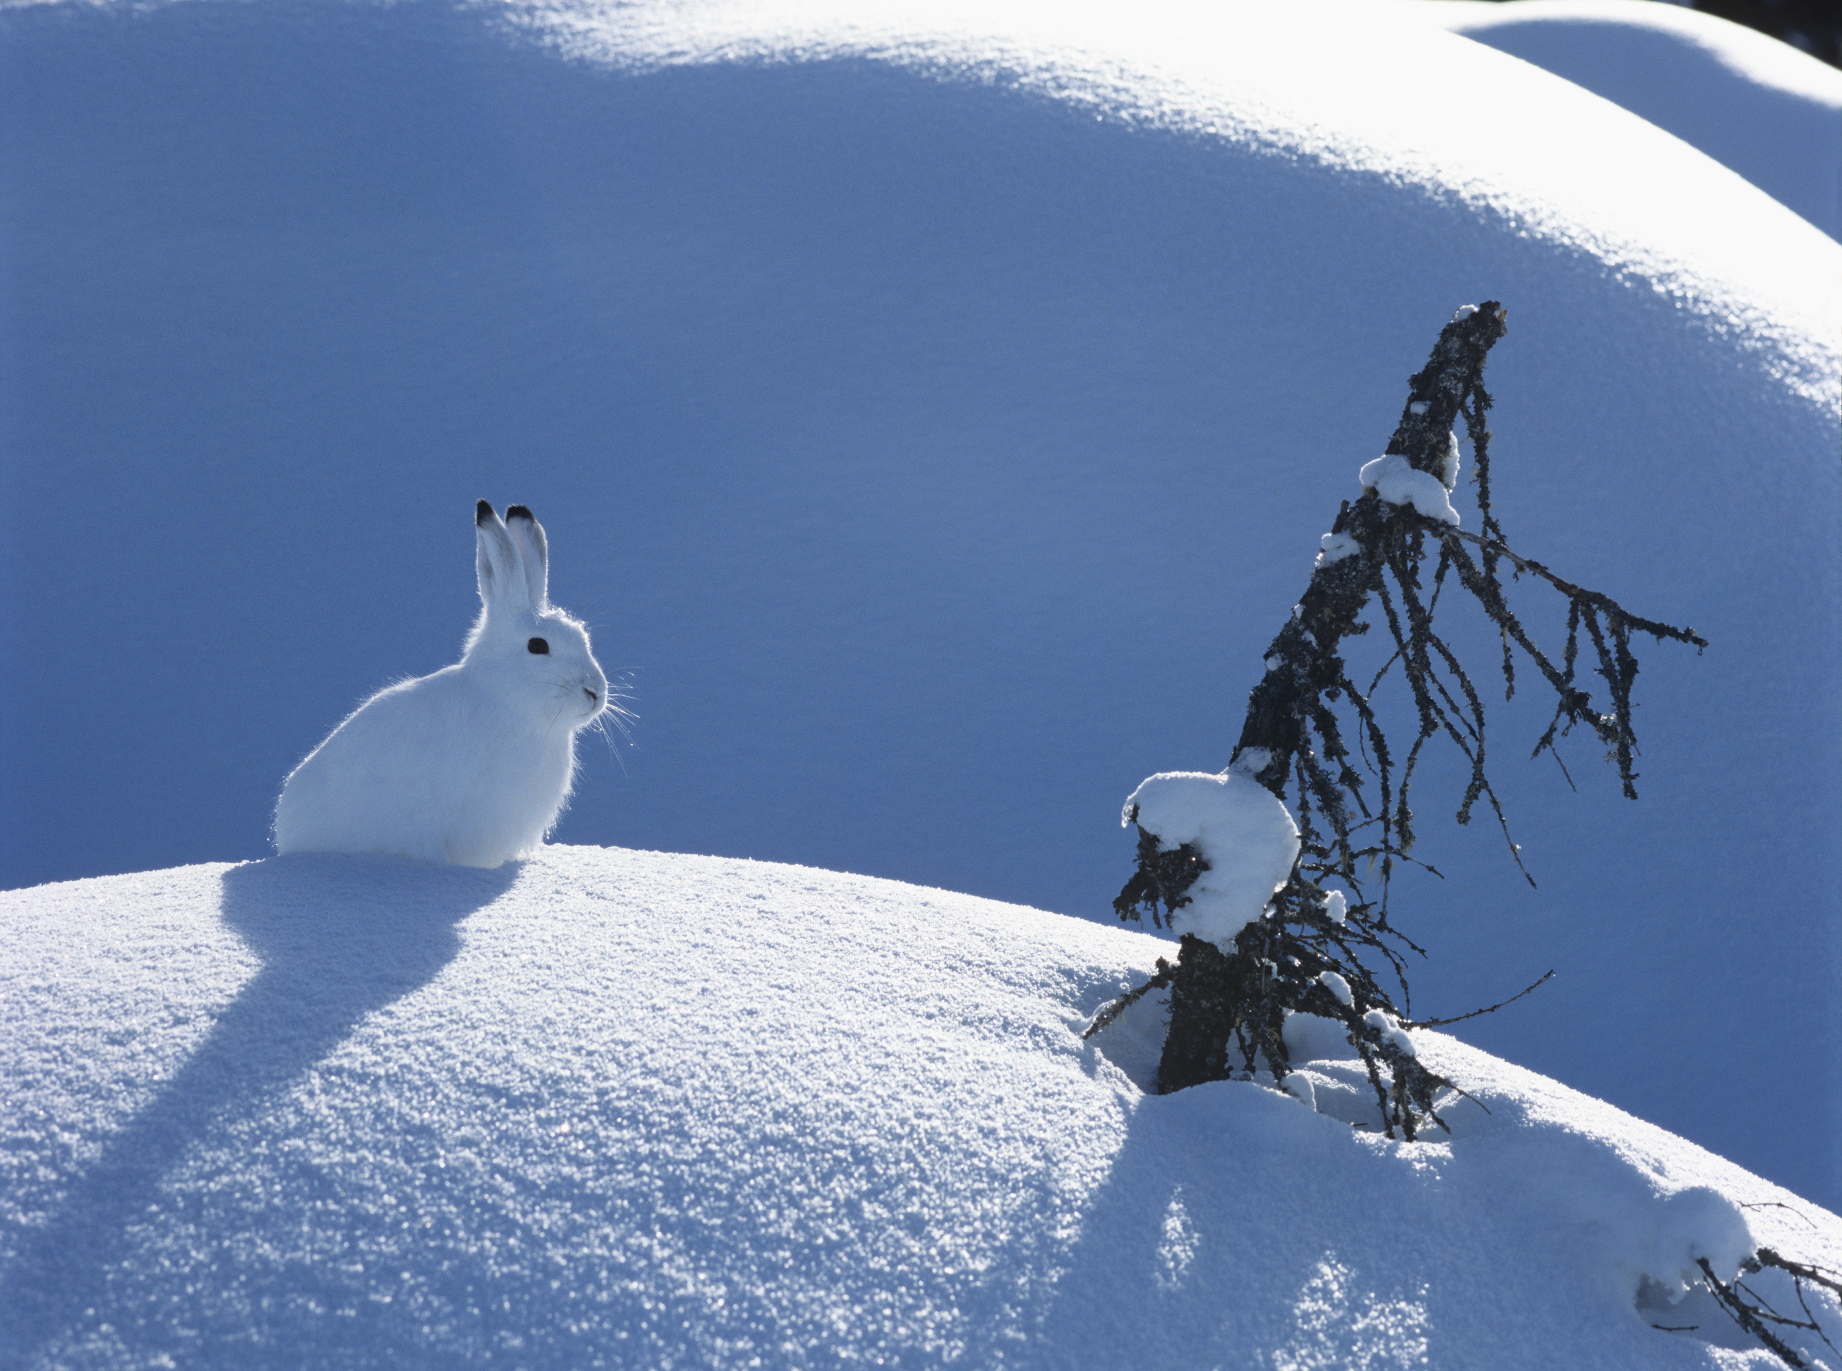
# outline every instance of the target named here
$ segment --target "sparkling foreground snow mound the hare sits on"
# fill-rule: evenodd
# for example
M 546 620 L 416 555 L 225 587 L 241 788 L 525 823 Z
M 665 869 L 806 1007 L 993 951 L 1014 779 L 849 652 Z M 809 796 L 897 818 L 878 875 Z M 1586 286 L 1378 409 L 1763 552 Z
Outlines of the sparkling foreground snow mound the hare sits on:
M 6 1367 L 1765 1371 L 1693 1259 L 1842 1264 L 1433 1032 L 1450 1139 L 1352 1128 L 1323 1021 L 1317 1111 L 1149 1096 L 1151 1001 L 1079 1034 L 1166 943 L 890 881 L 278 857 L 0 894 L 0 943 Z

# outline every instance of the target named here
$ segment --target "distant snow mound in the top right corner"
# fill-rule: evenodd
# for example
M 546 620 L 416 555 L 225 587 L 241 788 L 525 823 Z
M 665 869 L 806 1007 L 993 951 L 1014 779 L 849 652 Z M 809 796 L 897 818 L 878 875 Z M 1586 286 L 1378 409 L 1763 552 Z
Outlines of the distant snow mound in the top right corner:
M 1842 72 L 1743 24 L 1650 0 L 1389 0 L 1566 77 L 1842 238 Z

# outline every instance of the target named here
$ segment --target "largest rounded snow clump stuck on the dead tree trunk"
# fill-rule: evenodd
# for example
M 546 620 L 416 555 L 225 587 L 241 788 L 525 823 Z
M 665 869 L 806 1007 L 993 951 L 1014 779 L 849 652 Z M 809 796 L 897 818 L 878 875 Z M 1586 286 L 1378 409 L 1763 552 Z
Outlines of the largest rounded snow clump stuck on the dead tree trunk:
M 1155 833 L 1166 851 L 1190 844 L 1208 870 L 1175 920 L 1184 932 L 1234 951 L 1299 861 L 1299 826 L 1264 785 L 1236 772 L 1159 772 L 1125 800 L 1120 824 Z

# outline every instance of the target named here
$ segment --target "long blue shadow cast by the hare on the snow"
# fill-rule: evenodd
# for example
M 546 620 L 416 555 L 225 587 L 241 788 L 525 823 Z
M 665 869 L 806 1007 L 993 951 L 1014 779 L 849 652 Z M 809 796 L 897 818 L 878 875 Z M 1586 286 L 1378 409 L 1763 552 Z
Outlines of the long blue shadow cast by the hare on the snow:
M 138 1342 L 136 1312 L 111 1299 L 111 1271 L 186 1148 L 265 1113 L 359 1019 L 433 980 L 460 951 L 460 920 L 516 879 L 516 864 L 479 872 L 372 857 L 227 870 L 219 912 L 262 969 L 22 1244 L 0 1284 L 0 1364 L 28 1364 L 59 1334 L 98 1321 Z

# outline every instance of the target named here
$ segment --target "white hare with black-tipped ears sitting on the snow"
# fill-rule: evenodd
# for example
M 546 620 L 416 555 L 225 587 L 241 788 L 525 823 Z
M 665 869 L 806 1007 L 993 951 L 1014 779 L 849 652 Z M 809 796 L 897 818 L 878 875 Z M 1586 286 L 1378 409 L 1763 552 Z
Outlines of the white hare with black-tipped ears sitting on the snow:
M 556 824 L 575 735 L 608 708 L 588 630 L 549 603 L 523 505 L 473 518 L 481 615 L 460 662 L 372 695 L 282 785 L 278 851 L 381 851 L 499 866 Z

